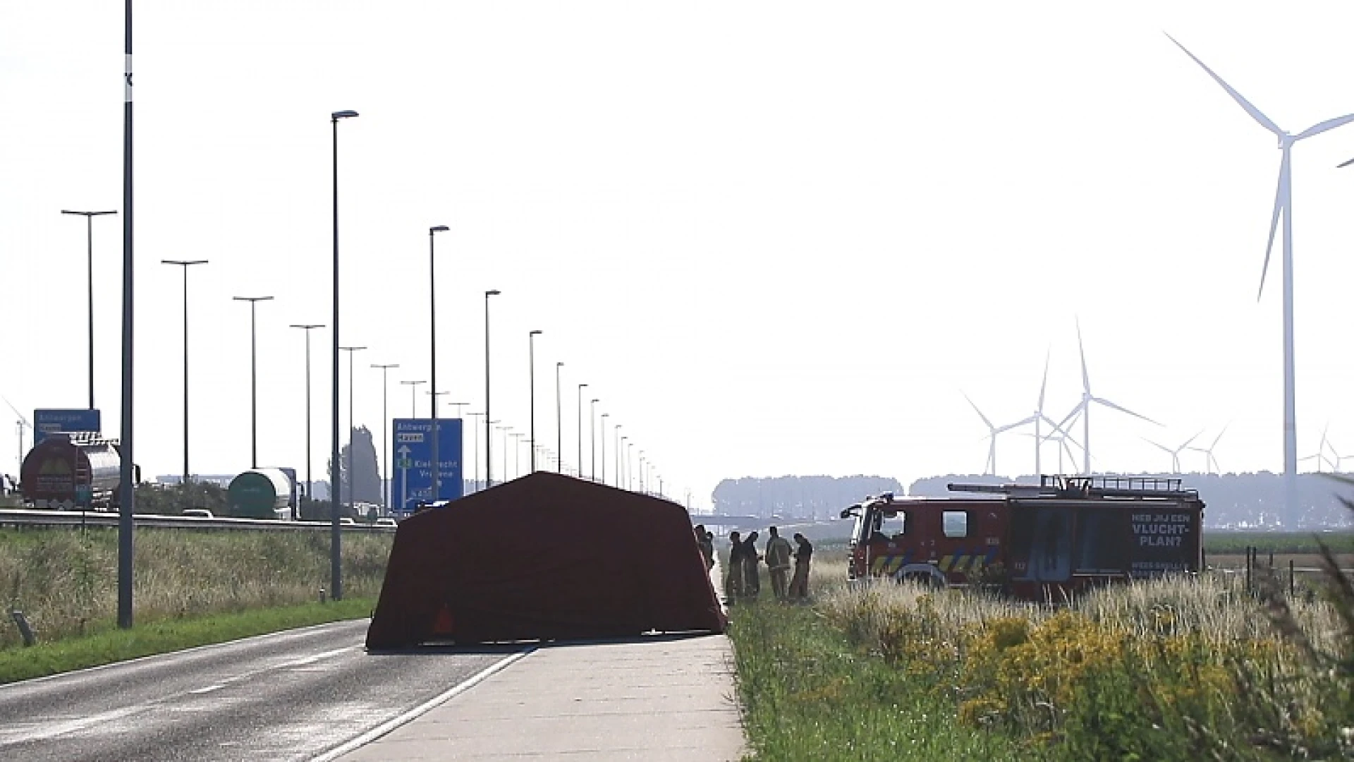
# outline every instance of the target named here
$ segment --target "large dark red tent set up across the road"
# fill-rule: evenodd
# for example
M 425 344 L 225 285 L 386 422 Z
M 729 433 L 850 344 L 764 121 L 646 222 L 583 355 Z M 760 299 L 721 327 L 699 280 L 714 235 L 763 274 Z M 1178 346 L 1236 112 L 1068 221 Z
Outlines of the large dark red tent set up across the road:
M 367 648 L 727 624 L 685 508 L 536 472 L 399 525 Z

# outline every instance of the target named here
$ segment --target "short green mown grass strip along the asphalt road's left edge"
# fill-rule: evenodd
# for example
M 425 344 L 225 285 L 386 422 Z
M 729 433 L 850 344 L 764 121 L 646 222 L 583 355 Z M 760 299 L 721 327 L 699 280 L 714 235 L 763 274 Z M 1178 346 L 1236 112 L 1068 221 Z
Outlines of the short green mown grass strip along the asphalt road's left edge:
M 161 620 L 126 630 L 108 629 L 31 648 L 0 651 L 0 685 L 298 626 L 356 620 L 371 616 L 375 606 L 372 598 L 347 598 L 328 603 Z

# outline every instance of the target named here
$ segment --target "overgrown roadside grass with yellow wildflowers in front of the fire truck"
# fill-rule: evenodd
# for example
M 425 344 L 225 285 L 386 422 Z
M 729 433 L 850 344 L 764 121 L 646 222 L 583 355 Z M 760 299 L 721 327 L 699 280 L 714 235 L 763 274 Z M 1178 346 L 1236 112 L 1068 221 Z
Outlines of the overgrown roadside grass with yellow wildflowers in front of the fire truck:
M 1047 607 L 818 556 L 811 605 L 731 607 L 758 758 L 1354 757 L 1354 588 L 1209 574 Z

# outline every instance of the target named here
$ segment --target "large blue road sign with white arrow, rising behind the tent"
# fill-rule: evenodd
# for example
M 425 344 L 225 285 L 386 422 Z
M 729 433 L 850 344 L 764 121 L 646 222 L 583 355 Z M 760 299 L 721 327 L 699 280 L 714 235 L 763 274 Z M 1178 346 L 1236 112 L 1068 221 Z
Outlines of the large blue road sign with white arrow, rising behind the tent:
M 391 422 L 390 508 L 408 515 L 418 503 L 460 498 L 460 419 L 437 419 L 437 496 L 432 495 L 432 419 L 397 418 Z

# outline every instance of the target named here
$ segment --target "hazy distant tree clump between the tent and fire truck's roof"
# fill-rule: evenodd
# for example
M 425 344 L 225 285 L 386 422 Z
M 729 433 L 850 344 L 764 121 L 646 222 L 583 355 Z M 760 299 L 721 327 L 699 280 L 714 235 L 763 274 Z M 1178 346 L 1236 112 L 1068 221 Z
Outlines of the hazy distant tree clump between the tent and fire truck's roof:
M 711 498 L 716 514 L 827 519 L 880 492 L 902 495 L 903 485 L 887 476 L 747 476 L 720 481 Z

